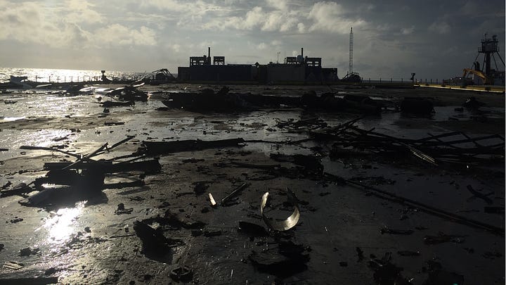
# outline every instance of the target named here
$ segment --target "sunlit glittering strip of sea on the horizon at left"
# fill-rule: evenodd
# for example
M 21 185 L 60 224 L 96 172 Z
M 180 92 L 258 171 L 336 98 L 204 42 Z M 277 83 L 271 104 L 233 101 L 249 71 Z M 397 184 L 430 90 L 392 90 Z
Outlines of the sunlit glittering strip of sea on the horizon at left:
M 100 80 L 100 70 L 71 70 L 47 68 L 0 68 L 0 82 L 8 82 L 14 76 L 27 76 L 28 80 L 35 82 L 82 82 Z M 146 72 L 124 72 L 105 70 L 105 76 L 110 80 L 138 80 L 150 77 Z

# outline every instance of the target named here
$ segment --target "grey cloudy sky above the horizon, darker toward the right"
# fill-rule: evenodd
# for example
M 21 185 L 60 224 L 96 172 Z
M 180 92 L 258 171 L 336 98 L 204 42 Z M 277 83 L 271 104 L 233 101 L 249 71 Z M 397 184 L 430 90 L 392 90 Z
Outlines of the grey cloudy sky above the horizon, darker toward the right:
M 484 33 L 505 59 L 505 1 L 0 0 L 0 67 L 152 71 L 190 56 L 283 61 L 304 47 L 346 75 L 449 78 Z M 498 59 L 498 58 L 497 58 Z M 504 66 L 498 59 L 500 69 Z M 502 65 L 502 67 L 501 67 Z

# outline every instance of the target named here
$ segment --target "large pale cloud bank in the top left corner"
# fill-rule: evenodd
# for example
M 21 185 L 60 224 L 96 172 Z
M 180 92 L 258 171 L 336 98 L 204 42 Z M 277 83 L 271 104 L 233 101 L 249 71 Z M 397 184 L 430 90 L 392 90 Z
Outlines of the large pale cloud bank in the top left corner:
M 70 0 L 42 8 L 34 2 L 6 4 L 4 7 L 0 11 L 0 39 L 58 48 L 100 47 L 104 43 L 108 46 L 152 46 L 157 43 L 155 31 L 145 26 L 128 28 L 114 23 L 96 29 L 84 28 L 84 25 L 105 21 L 103 15 L 94 11 L 93 5 L 86 1 Z

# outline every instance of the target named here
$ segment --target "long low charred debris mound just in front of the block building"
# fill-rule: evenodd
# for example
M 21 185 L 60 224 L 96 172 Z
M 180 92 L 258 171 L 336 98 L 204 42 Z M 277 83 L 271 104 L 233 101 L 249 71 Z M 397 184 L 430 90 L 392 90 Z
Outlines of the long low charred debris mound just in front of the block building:
M 261 108 L 304 108 L 330 112 L 379 115 L 382 112 L 403 112 L 413 115 L 431 115 L 434 103 L 425 98 L 406 98 L 401 102 L 372 99 L 361 94 L 328 91 L 316 94 L 307 91 L 301 96 L 271 96 L 266 94 L 235 93 L 228 87 L 201 89 L 196 92 L 180 91 L 164 94 L 162 100 L 169 109 L 190 110 L 200 113 L 257 110 Z

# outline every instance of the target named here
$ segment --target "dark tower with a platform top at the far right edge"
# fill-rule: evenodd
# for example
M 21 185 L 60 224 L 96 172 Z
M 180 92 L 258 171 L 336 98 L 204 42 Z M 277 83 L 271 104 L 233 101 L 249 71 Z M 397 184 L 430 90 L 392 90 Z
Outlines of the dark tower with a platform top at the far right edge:
M 482 63 L 478 61 L 479 56 L 483 54 L 484 58 Z M 497 61 L 495 61 L 495 55 L 499 57 L 502 63 L 502 70 L 499 70 Z M 492 60 L 494 66 L 492 66 Z M 505 84 L 505 62 L 499 53 L 499 41 L 497 36 L 494 34 L 491 38 L 484 34 L 484 38 L 481 39 L 481 47 L 478 49 L 478 55 L 474 58 L 473 68 L 465 68 L 462 77 L 467 75 L 473 75 L 472 82 L 474 84 L 485 84 L 485 85 L 504 85 Z

